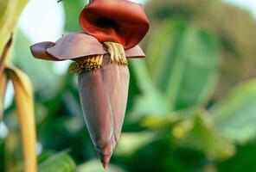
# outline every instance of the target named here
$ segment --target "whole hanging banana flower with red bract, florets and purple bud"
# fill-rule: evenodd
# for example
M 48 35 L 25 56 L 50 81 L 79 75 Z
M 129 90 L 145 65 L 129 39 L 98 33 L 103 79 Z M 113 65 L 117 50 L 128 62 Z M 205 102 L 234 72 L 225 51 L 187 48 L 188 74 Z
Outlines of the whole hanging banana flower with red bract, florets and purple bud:
M 126 58 L 144 58 L 138 46 L 149 29 L 143 7 L 126 0 L 94 0 L 80 13 L 85 33 L 31 46 L 35 58 L 71 59 L 78 74 L 86 126 L 106 168 L 125 118 L 129 87 Z

